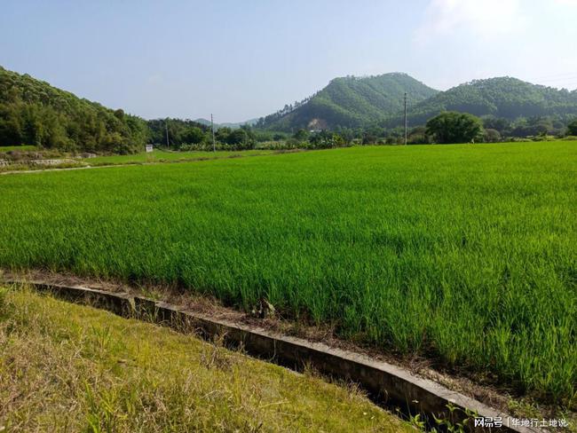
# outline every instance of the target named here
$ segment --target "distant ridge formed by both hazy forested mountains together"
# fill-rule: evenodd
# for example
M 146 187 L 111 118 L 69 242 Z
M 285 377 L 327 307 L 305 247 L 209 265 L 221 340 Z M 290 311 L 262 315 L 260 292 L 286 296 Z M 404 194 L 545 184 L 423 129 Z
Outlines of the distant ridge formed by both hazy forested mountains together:
M 558 90 L 512 77 L 496 77 L 460 84 L 447 91 L 401 73 L 336 78 L 295 106 L 261 118 L 257 127 L 268 130 L 389 128 L 404 122 L 403 96 L 407 92 L 410 125 L 422 125 L 443 111 L 478 116 L 518 117 L 577 114 L 577 90 Z

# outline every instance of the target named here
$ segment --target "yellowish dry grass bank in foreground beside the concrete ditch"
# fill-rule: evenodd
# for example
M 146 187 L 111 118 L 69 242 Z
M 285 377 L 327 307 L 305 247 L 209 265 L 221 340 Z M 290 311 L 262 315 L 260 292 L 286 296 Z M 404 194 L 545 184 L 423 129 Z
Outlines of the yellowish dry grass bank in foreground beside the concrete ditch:
M 314 374 L 26 290 L 0 296 L 0 430 L 410 431 Z

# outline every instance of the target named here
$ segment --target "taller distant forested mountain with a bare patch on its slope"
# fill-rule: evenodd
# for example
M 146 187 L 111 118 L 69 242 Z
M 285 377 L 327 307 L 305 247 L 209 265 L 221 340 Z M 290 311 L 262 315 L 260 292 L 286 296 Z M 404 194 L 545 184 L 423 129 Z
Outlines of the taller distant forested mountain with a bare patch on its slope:
M 286 131 L 362 127 L 399 113 L 405 92 L 413 102 L 438 93 L 407 74 L 335 78 L 311 97 L 261 118 L 256 126 Z

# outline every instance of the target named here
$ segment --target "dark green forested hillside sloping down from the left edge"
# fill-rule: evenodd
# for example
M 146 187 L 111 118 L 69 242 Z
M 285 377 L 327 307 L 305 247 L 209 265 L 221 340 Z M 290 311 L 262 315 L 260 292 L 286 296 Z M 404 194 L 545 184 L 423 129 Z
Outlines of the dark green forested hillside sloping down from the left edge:
M 136 116 L 0 67 L 0 146 L 130 153 L 147 137 L 146 122 Z

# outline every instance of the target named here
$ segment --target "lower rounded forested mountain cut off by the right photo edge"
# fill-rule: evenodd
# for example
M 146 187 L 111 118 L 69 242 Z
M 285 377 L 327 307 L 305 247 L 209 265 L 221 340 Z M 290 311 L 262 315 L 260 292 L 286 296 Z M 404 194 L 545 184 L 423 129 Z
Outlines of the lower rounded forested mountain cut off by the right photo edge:
M 577 114 L 577 91 L 558 90 L 511 77 L 476 80 L 412 104 L 408 120 L 411 125 L 424 124 L 443 111 L 493 115 L 509 120 Z M 388 123 L 397 126 L 398 116 Z

